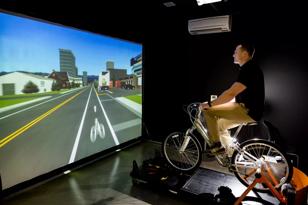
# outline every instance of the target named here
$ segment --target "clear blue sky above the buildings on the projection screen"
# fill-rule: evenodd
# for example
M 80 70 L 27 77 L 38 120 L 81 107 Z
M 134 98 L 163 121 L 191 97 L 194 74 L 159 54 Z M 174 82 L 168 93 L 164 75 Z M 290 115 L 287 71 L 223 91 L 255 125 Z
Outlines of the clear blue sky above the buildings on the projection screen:
M 138 44 L 0 13 L 0 72 L 59 71 L 59 48 L 74 53 L 79 75 L 98 75 L 107 60 L 131 74 L 130 59 L 142 53 Z

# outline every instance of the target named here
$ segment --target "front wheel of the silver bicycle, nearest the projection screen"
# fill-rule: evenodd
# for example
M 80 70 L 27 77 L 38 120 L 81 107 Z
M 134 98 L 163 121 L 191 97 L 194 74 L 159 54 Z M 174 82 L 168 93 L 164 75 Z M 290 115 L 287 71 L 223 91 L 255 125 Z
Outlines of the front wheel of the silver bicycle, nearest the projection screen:
M 202 148 L 194 135 L 188 136 L 188 144 L 184 151 L 180 151 L 185 139 L 185 133 L 174 132 L 162 143 L 164 158 L 174 168 L 185 171 L 196 170 L 202 161 Z

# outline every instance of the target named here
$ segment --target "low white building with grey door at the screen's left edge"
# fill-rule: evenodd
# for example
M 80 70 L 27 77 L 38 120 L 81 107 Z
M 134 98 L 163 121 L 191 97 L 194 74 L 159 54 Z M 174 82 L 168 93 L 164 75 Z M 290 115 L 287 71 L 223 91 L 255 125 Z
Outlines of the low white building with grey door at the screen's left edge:
M 0 76 L 0 95 L 17 95 L 24 94 L 22 89 L 24 85 L 32 81 L 39 88 L 39 93 L 51 91 L 52 82 L 54 79 L 45 78 L 40 75 L 13 72 L 6 75 Z

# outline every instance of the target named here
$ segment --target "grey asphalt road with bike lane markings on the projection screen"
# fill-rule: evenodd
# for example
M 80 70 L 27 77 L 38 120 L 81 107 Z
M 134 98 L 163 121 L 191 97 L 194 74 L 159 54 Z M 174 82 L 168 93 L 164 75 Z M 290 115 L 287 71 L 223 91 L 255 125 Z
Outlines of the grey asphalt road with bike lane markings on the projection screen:
M 3 189 L 67 165 L 70 160 L 77 161 L 139 137 L 141 114 L 116 98 L 141 94 L 141 90 L 115 88 L 110 91 L 113 93 L 97 96 L 94 88 L 88 86 L 0 113 Z M 29 109 L 24 110 L 26 108 Z M 92 142 L 95 118 L 103 125 L 105 136 L 102 139 L 97 135 Z

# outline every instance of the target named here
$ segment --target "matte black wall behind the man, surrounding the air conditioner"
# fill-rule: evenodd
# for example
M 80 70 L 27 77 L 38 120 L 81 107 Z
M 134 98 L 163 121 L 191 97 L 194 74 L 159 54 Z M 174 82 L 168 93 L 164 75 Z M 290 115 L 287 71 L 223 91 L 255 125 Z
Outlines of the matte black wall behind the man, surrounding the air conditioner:
M 162 7 L 160 29 L 146 41 L 144 123 L 151 139 L 161 142 L 172 132 L 188 129 L 192 123 L 183 105 L 209 101 L 210 95 L 219 96 L 232 86 L 240 71 L 232 55 L 237 43 L 248 41 L 254 43 L 253 59 L 265 78 L 265 114 L 258 125 L 250 126 L 249 137 L 268 139 L 262 120 L 269 121 L 280 131 L 286 151 L 300 154 L 300 169 L 307 173 L 307 41 L 300 6 L 244 5 L 241 12 L 220 13 L 233 15 L 231 32 L 191 35 L 189 19 L 219 15 L 200 8 L 185 12 L 187 8 Z M 247 135 L 245 126 L 239 141 Z

